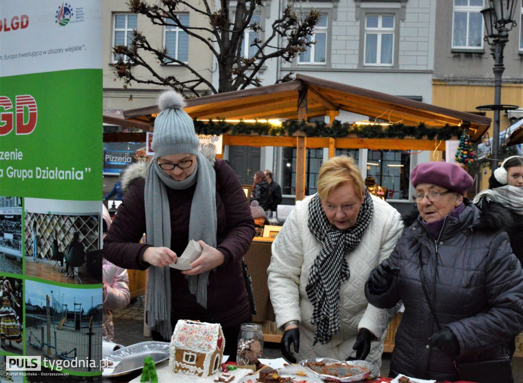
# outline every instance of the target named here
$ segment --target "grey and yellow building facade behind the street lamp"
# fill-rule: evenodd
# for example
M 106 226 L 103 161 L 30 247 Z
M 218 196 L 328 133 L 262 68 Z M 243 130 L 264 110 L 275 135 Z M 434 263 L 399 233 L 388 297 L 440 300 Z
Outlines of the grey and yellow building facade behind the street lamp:
M 433 104 L 467 112 L 494 104 L 494 58 L 484 41 L 481 9 L 487 0 L 452 0 L 436 6 L 436 39 L 433 76 Z M 517 25 L 509 32 L 504 49 L 501 103 L 523 107 L 523 6 L 515 13 Z M 494 119 L 493 111 L 482 112 Z M 502 112 L 500 131 L 523 117 L 521 111 Z M 492 128 L 489 132 L 492 137 Z M 485 137 L 486 140 L 486 137 Z M 488 172 L 477 187 L 488 187 Z

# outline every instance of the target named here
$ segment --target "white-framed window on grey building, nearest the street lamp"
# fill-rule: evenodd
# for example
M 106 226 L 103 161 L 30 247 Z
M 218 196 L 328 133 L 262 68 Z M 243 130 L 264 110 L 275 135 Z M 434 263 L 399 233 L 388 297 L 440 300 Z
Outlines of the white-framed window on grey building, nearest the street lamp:
M 483 0 L 454 0 L 452 48 L 483 48 Z

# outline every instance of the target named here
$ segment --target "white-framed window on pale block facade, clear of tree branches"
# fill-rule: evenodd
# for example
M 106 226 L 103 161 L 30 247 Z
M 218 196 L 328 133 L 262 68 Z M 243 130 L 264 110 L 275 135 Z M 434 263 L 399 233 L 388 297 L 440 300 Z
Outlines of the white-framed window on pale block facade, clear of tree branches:
M 394 15 L 365 16 L 365 65 L 393 65 L 394 26 Z

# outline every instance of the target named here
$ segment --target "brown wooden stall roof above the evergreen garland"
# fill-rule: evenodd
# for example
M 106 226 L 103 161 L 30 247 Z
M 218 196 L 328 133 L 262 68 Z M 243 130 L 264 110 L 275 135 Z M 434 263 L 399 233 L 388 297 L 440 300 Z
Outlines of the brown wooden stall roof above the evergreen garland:
M 474 141 L 483 136 L 491 123 L 490 118 L 481 115 L 300 74 L 286 83 L 187 99 L 184 110 L 192 118 L 200 120 L 298 119 L 300 106 L 306 117 L 336 115 L 339 110 L 346 110 L 404 125 L 424 122 L 434 127 L 447 123 L 468 126 Z M 120 125 L 151 127 L 151 116 L 158 111 L 156 105 L 124 110 Z M 112 118 L 111 123 L 115 120 Z

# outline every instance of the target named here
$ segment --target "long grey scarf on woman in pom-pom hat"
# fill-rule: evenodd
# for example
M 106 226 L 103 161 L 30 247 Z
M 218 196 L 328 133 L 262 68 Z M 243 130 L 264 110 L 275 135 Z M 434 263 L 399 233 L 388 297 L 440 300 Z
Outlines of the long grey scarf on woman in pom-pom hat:
M 194 172 L 183 181 L 174 181 L 156 160 L 150 162 L 145 178 L 145 228 L 147 244 L 169 247 L 171 239 L 170 208 L 167 187 L 187 189 L 196 183 L 189 218 L 189 240 L 216 246 L 216 175 L 211 163 L 200 152 Z M 181 255 L 181 254 L 178 254 Z M 186 277 L 196 301 L 207 307 L 209 272 Z M 147 282 L 147 325 L 165 339 L 173 334 L 170 323 L 170 267 L 149 267 Z

